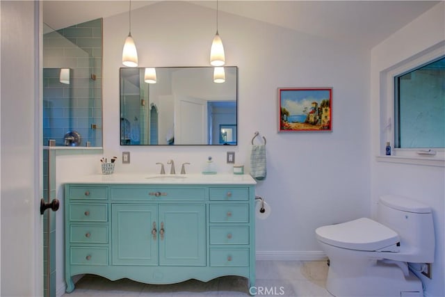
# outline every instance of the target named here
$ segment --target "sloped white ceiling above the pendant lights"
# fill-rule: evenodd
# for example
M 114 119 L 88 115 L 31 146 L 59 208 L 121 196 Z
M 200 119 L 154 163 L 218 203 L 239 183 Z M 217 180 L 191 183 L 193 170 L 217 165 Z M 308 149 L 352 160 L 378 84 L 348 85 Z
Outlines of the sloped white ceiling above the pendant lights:
M 170 1 L 170 0 L 163 0 Z M 160 1 L 131 1 L 131 9 Z M 216 1 L 186 1 L 216 9 Z M 440 1 L 230 1 L 219 11 L 371 49 Z M 43 1 L 43 21 L 61 29 L 129 10 L 129 1 Z

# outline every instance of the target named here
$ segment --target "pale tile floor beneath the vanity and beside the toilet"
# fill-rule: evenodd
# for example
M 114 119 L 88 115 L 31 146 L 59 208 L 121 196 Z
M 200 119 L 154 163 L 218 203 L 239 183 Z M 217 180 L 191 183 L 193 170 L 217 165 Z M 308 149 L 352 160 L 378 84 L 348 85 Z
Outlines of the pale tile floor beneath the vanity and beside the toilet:
M 257 261 L 257 296 L 331 296 L 325 289 L 326 261 Z M 188 280 L 179 284 L 141 284 L 128 279 L 111 282 L 85 275 L 76 289 L 63 297 L 90 296 L 250 296 L 248 280 L 226 276 L 209 282 Z

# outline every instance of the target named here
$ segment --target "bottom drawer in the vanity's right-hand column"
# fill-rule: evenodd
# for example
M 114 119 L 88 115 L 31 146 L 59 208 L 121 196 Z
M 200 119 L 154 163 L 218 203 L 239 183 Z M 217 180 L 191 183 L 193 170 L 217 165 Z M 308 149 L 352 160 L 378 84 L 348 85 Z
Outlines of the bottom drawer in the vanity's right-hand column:
M 248 248 L 211 248 L 210 266 L 249 266 Z

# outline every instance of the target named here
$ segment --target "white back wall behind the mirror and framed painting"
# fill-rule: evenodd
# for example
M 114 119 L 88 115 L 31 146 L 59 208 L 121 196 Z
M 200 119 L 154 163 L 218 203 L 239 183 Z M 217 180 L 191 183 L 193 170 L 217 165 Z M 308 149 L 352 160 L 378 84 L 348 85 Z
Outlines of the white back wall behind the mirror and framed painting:
M 140 67 L 209 65 L 214 17 L 214 10 L 186 2 L 133 10 Z M 127 25 L 127 13 L 104 19 L 104 156 L 131 152 L 131 164 L 119 159 L 116 172 L 159 172 L 156 162 L 174 159 L 191 162 L 188 172 L 198 173 L 207 156 L 219 172 L 232 172 L 227 151 L 235 151 L 236 163 L 245 163 L 248 172 L 250 141 L 259 131 L 267 138 L 268 175 L 257 184 L 257 195 L 272 207 L 267 220 L 257 220 L 259 259 L 318 259 L 323 252 L 316 227 L 369 216 L 369 51 L 220 12 L 226 63 L 239 67 L 238 146 L 121 147 L 119 68 Z M 278 87 L 332 87 L 333 131 L 277 133 Z M 99 173 L 101 157 L 58 156 L 58 181 Z M 63 267 L 58 271 L 63 282 Z

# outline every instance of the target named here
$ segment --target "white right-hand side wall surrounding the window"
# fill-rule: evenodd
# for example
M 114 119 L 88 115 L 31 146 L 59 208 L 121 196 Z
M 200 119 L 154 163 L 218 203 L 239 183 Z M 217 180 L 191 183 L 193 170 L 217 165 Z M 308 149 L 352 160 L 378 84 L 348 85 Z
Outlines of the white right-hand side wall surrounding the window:
M 380 141 L 380 115 L 387 113 L 386 104 L 381 104 L 380 72 L 445 40 L 444 4 L 437 4 L 371 50 L 371 209 L 375 210 L 379 196 L 385 193 L 405 195 L 432 207 L 436 252 L 432 280 L 421 275 L 421 280 L 426 285 L 426 296 L 445 296 L 445 170 L 443 167 L 376 161 L 375 156 L 380 154 L 383 145 Z

